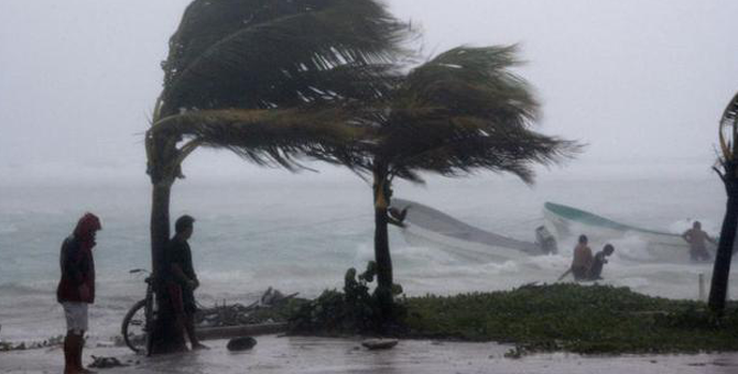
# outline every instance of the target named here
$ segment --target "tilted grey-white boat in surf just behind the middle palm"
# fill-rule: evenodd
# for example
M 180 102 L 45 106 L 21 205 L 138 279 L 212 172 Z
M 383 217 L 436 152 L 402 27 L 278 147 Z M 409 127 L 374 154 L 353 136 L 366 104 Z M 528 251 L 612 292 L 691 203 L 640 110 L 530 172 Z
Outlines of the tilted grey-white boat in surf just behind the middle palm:
M 511 260 L 544 254 L 541 245 L 475 228 L 420 202 L 392 199 L 392 207 L 408 208 L 405 240 L 413 245 L 430 245 L 470 260 Z

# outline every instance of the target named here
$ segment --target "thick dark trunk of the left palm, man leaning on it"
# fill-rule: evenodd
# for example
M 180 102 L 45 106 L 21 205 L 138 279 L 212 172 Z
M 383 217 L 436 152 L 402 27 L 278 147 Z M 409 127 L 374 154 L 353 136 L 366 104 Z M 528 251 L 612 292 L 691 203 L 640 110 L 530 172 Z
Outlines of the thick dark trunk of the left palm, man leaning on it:
M 152 180 L 153 182 L 153 180 Z M 170 197 L 172 183 L 153 182 L 151 201 L 151 265 L 154 279 L 158 277 L 162 256 L 170 239 Z M 186 349 L 184 331 L 175 323 L 175 314 L 165 297 L 166 289 L 162 282 L 154 282 L 159 311 L 151 331 L 150 354 L 180 352 Z

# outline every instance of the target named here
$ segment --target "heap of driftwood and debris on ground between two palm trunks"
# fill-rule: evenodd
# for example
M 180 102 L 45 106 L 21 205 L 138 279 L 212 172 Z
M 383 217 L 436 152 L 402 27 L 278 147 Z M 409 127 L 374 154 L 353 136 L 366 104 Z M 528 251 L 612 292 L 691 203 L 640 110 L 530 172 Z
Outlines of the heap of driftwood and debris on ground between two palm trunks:
M 299 293 L 285 295 L 269 287 L 259 300 L 248 306 L 238 302 L 227 305 L 224 300 L 223 305 L 216 304 L 213 308 L 200 308 L 195 315 L 195 323 L 199 328 L 211 328 L 271 322 L 273 320 L 264 320 L 262 316 L 257 316 L 256 311 L 283 306 L 285 301 L 297 295 Z

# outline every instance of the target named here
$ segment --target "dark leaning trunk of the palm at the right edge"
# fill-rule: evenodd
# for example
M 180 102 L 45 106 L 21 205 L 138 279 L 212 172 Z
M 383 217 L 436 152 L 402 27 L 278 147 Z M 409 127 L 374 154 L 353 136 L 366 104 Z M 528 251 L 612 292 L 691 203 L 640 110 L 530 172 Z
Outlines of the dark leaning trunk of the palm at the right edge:
M 726 190 L 728 202 L 720 229 L 720 241 L 717 245 L 715 265 L 713 267 L 713 280 L 709 287 L 709 308 L 723 314 L 725 300 L 728 293 L 728 276 L 730 274 L 730 262 L 732 260 L 732 246 L 736 240 L 736 228 L 738 227 L 738 185 L 728 178 L 735 178 L 734 173 L 726 173 Z

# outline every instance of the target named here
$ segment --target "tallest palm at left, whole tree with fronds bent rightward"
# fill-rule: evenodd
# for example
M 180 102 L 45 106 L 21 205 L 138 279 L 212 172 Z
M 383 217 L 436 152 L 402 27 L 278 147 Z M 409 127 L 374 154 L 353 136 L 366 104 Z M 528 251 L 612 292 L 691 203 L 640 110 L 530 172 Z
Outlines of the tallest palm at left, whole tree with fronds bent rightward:
M 195 0 L 170 40 L 163 90 L 145 135 L 153 185 L 152 268 L 170 237 L 170 198 L 196 148 L 258 165 L 337 162 L 361 129 L 359 103 L 383 96 L 409 28 L 375 0 Z M 154 352 L 182 348 L 166 319 Z

